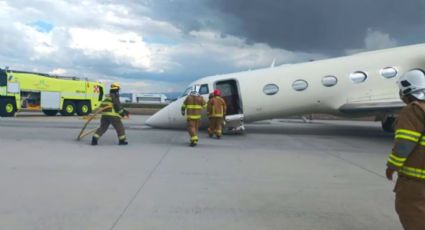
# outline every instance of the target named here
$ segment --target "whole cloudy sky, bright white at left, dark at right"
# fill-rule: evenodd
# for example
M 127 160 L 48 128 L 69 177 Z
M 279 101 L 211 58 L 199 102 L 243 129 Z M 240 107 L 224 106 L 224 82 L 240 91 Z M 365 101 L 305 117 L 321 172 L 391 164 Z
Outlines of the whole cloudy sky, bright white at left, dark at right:
M 0 0 L 2 68 L 178 92 L 215 74 L 425 42 L 425 0 Z

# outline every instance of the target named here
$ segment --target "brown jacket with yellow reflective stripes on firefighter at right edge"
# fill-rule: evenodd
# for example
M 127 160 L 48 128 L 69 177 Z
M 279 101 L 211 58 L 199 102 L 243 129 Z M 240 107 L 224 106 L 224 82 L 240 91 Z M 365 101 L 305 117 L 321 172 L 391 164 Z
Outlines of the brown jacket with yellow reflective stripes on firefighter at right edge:
M 425 102 L 404 107 L 395 124 L 395 143 L 387 166 L 400 175 L 425 180 Z

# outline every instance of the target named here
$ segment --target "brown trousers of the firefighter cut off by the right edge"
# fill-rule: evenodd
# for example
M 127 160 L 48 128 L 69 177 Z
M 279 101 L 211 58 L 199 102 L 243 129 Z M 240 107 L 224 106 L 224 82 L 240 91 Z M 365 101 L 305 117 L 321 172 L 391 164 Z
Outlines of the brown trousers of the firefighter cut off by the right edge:
M 405 230 L 425 229 L 425 181 L 399 176 L 395 208 Z

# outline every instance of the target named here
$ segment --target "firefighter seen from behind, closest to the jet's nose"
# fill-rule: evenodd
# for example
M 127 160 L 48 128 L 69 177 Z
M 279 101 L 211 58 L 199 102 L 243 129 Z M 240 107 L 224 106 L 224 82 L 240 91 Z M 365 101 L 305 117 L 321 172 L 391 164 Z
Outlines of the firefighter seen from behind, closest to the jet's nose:
M 201 124 L 202 109 L 205 108 L 206 103 L 204 98 L 198 92 L 192 91 L 183 102 L 181 112 L 187 117 L 187 131 L 190 136 L 190 146 L 198 144 L 198 129 Z

